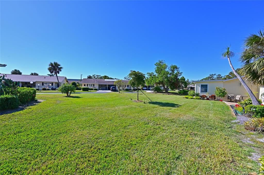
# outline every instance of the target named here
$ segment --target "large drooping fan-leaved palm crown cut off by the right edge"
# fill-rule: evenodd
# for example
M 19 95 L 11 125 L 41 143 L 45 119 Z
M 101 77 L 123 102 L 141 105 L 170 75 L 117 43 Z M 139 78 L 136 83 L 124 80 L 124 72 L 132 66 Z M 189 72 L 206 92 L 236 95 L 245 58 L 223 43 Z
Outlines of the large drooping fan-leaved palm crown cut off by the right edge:
M 244 64 L 241 73 L 246 80 L 264 85 L 264 30 L 251 34 L 244 40 L 240 61 Z

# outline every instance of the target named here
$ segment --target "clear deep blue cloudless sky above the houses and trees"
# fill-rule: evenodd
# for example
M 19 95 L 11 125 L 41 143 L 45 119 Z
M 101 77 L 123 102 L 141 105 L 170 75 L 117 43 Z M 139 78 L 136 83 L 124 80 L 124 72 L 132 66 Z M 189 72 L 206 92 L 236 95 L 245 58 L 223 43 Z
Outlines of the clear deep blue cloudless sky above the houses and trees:
M 243 39 L 264 27 L 264 1 L 1 1 L 1 73 L 123 78 L 154 71 L 160 59 L 188 79 L 240 66 Z

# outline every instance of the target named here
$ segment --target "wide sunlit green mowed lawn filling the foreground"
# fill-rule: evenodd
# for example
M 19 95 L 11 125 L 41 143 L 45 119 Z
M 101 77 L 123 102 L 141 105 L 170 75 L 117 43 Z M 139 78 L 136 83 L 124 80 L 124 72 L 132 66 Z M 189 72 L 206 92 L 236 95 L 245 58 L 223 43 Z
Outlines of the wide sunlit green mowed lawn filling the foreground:
M 220 101 L 39 94 L 0 116 L 0 174 L 248 174 L 258 165 Z M 243 129 L 243 128 L 242 128 Z

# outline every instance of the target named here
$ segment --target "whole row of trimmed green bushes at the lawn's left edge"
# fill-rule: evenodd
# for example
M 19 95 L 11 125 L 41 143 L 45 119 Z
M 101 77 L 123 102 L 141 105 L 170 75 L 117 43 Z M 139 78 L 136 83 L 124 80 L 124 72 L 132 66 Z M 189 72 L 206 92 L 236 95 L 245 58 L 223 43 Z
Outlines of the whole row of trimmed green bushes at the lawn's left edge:
M 29 101 L 35 100 L 36 89 L 33 88 L 4 88 L 4 95 L 1 95 L 0 109 L 15 109 L 19 104 L 26 104 Z M 18 101 L 17 101 L 18 100 Z

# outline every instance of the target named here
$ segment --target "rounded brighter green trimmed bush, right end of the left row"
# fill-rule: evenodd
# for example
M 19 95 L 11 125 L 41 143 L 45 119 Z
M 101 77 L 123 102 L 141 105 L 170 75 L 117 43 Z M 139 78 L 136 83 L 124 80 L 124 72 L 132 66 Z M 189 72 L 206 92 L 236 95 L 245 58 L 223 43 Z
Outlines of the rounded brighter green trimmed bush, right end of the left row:
M 18 88 L 17 92 L 19 102 L 26 104 L 29 101 L 35 100 L 37 91 L 33 88 Z

